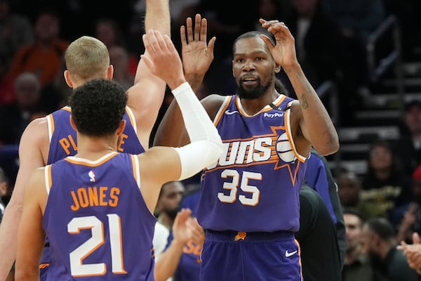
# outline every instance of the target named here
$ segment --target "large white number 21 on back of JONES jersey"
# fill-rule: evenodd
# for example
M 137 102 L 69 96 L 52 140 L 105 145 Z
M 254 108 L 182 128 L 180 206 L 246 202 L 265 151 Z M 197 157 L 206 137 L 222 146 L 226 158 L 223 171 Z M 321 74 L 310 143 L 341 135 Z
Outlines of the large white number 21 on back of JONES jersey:
M 126 273 L 123 266 L 123 251 L 121 246 L 121 222 L 117 214 L 107 214 L 109 225 L 109 241 L 111 247 L 112 273 Z M 91 229 L 92 237 L 83 242 L 79 247 L 69 254 L 70 271 L 72 276 L 93 276 L 105 275 L 107 267 L 105 263 L 83 264 L 95 249 L 98 249 L 105 242 L 104 226 L 96 216 L 83 216 L 72 218 L 67 224 L 67 232 L 78 234 L 82 229 Z

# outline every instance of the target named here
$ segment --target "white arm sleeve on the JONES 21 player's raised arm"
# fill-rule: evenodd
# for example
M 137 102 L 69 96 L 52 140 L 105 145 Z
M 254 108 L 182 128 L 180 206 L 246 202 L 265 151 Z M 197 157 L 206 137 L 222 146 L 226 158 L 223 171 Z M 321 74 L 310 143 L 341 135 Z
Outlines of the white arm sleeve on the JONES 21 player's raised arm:
M 173 94 L 191 141 L 182 148 L 176 148 L 180 155 L 182 180 L 194 176 L 217 161 L 222 152 L 222 141 L 218 130 L 187 82 L 175 88 Z

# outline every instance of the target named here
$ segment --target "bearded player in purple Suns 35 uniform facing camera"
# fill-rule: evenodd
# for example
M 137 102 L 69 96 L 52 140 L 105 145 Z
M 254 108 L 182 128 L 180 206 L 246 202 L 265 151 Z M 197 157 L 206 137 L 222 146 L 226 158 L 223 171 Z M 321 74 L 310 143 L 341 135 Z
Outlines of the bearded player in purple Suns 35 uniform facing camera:
M 277 20 L 260 23 L 276 44 L 259 32 L 238 37 L 232 62 L 236 95 L 202 100 L 220 133 L 223 152 L 206 167 L 201 182 L 197 218 L 206 240 L 200 280 L 302 280 L 294 233 L 299 229 L 306 160 L 312 146 L 321 155 L 339 148 L 328 112 L 298 63 L 288 27 Z M 187 34 L 189 42 L 198 37 L 196 29 L 194 35 Z M 184 35 L 182 47 L 188 45 Z M 202 53 L 210 51 L 206 41 L 202 47 Z M 185 73 L 196 67 L 200 83 L 207 68 L 199 69 L 200 63 L 182 53 Z M 210 65 L 209 56 L 201 60 Z M 298 100 L 275 90 L 281 67 Z M 173 103 L 154 144 L 185 143 L 180 131 L 182 120 Z

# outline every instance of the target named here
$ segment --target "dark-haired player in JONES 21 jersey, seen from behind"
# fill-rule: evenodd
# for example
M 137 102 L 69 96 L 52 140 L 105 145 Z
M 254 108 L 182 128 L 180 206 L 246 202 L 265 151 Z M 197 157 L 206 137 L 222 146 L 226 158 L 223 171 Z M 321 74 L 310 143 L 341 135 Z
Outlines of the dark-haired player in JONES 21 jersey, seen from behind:
M 149 30 L 143 40 L 149 52 L 143 59 L 173 91 L 191 143 L 140 155 L 118 153 L 127 101 L 123 88 L 109 79 L 78 87 L 70 103 L 77 154 L 36 169 L 25 188 L 18 280 L 39 280 L 45 235 L 51 242 L 47 280 L 154 280 L 152 211 L 161 185 L 217 161 L 222 141 L 185 80 L 171 39 Z

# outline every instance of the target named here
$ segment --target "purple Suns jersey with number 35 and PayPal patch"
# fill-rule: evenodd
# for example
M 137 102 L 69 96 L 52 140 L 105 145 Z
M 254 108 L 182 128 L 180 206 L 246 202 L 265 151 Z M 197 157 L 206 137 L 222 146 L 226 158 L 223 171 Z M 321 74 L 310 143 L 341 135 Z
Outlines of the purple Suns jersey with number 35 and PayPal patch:
M 203 228 L 245 232 L 299 229 L 307 158 L 295 150 L 290 104 L 279 96 L 257 114 L 227 96 L 214 124 L 223 152 L 202 175 L 197 218 Z

